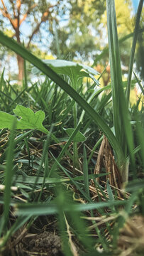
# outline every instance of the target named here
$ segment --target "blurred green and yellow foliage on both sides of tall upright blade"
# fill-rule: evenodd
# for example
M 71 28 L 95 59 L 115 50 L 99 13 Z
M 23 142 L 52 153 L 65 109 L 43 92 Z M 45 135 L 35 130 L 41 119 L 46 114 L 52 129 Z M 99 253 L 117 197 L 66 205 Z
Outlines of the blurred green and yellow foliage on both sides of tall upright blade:
M 104 0 L 73 0 L 67 1 L 67 21 L 60 26 L 57 20 L 56 30 L 61 58 L 94 62 L 99 53 L 107 46 L 106 1 Z M 131 0 L 116 0 L 116 18 L 118 37 L 133 32 L 134 20 Z M 56 41 L 56 40 L 55 40 Z M 129 56 L 131 53 L 131 38 L 121 44 L 121 60 L 123 74 L 128 72 Z M 50 50 L 57 55 L 57 43 L 52 43 Z M 101 73 L 108 64 L 109 53 L 96 63 L 96 69 Z M 102 77 L 103 85 L 110 79 L 110 68 Z

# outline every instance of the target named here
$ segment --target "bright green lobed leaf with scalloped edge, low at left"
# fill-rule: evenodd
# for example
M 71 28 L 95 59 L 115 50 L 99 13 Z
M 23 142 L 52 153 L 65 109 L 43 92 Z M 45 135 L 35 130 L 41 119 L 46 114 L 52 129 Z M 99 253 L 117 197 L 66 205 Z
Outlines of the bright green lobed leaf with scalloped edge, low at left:
M 38 129 L 43 130 L 43 120 L 45 119 L 45 112 L 39 110 L 38 112 L 33 112 L 28 107 L 23 107 L 22 105 L 17 105 L 13 112 L 21 119 L 18 119 L 17 129 Z

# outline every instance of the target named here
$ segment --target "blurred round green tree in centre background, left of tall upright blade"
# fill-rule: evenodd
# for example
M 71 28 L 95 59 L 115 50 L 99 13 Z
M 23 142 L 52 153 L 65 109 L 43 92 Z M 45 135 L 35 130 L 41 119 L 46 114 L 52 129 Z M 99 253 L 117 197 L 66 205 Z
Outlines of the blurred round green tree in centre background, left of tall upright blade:
M 106 10 L 105 0 L 68 0 L 65 26 L 57 20 L 57 38 L 62 58 L 92 58 L 99 46 L 99 30 L 101 15 Z M 56 43 L 50 46 L 53 54 L 57 54 Z M 70 57 L 67 57 L 70 56 Z

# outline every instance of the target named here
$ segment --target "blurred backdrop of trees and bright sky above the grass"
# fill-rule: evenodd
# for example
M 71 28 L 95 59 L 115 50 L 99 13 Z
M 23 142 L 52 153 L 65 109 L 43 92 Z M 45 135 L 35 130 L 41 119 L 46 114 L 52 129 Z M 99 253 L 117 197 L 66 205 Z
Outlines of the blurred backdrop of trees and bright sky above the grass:
M 131 0 L 115 2 L 121 38 L 133 32 L 133 11 Z M 107 45 L 105 0 L 1 0 L 0 13 L 1 29 L 42 58 L 49 53 L 57 58 L 91 62 Z M 121 44 L 121 60 L 125 67 L 128 66 L 130 43 Z M 104 68 L 108 59 L 107 54 L 102 63 L 97 63 L 99 68 L 100 65 Z M 17 60 L 18 78 L 22 80 L 23 60 L 20 56 Z M 140 63 L 139 52 L 137 60 Z

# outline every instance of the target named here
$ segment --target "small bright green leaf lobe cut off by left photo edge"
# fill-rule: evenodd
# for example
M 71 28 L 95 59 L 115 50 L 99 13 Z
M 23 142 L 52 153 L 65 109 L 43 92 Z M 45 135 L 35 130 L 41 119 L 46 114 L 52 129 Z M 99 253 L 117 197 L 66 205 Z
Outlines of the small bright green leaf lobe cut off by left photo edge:
M 0 111 L 0 129 L 11 129 L 14 119 L 16 119 L 16 117 L 14 117 L 12 114 Z

